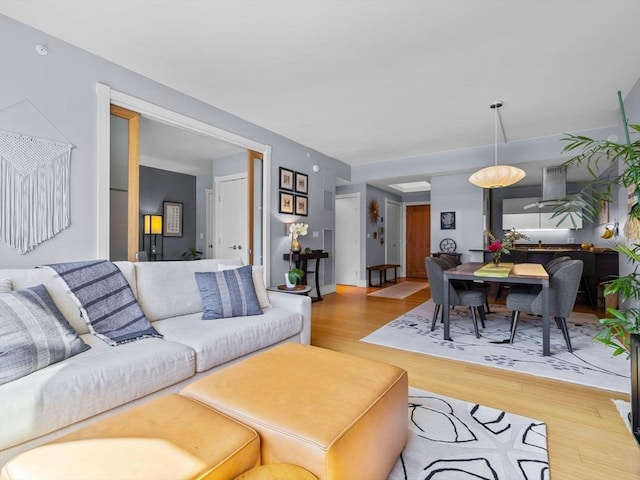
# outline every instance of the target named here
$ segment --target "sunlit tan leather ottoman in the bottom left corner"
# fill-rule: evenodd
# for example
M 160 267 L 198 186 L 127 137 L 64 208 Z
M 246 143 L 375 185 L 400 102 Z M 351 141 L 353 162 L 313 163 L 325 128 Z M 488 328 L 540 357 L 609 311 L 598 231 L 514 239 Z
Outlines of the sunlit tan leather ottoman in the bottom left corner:
M 260 465 L 251 428 L 166 395 L 18 455 L 2 480 L 229 480 Z

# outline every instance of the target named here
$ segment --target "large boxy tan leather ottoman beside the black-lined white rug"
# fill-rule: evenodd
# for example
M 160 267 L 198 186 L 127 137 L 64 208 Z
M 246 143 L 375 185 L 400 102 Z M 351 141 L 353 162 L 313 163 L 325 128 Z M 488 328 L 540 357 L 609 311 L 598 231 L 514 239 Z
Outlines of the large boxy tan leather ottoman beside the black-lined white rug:
M 262 463 L 320 480 L 386 479 L 407 441 L 407 373 L 310 345 L 285 344 L 181 392 L 260 435 Z

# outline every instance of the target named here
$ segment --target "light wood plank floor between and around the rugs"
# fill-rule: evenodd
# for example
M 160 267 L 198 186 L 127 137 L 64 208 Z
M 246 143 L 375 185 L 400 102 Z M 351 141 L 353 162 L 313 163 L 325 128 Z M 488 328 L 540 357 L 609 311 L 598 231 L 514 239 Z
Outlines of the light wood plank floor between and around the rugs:
M 628 395 L 360 342 L 430 296 L 367 297 L 374 290 L 338 286 L 314 303 L 311 343 L 398 365 L 414 387 L 546 422 L 552 480 L 640 479 L 640 446 L 611 401 Z

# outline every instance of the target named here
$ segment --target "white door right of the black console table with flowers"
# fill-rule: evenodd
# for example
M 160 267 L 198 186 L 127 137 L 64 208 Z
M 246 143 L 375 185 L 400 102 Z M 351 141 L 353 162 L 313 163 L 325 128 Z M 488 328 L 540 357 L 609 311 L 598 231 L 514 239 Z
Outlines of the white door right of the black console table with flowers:
M 360 283 L 360 194 L 336 195 L 336 283 Z

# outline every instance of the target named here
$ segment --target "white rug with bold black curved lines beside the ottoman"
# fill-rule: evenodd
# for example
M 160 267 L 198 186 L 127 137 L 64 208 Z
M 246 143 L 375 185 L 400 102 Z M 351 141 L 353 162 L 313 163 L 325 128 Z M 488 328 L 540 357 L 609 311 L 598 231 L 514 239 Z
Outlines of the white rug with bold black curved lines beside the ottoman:
M 389 480 L 548 480 L 543 422 L 409 389 L 409 441 Z

